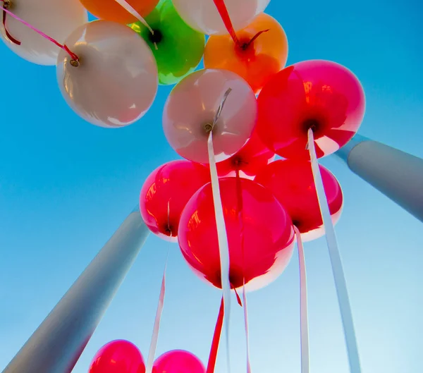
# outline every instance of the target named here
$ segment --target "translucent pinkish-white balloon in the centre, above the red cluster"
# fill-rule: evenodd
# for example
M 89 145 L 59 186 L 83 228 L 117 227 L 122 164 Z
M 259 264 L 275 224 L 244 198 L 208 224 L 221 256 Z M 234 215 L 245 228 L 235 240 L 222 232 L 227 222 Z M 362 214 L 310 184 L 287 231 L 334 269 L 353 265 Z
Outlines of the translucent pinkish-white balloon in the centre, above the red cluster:
M 250 138 L 257 120 L 257 99 L 247 82 L 231 71 L 195 71 L 173 88 L 163 111 L 164 134 L 181 157 L 209 163 L 207 126 L 213 123 L 228 88 L 232 92 L 213 130 L 216 161 L 231 157 Z

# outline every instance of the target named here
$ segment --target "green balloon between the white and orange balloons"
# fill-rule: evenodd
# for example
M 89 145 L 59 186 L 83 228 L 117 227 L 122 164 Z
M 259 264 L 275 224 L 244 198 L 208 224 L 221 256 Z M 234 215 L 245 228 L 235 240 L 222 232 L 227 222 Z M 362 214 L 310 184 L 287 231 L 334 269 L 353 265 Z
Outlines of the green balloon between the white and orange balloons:
M 159 70 L 159 83 L 176 84 L 195 71 L 204 54 L 205 36 L 192 30 L 180 18 L 172 1 L 161 0 L 145 20 L 154 30 L 154 35 L 140 22 L 129 26 L 152 49 Z

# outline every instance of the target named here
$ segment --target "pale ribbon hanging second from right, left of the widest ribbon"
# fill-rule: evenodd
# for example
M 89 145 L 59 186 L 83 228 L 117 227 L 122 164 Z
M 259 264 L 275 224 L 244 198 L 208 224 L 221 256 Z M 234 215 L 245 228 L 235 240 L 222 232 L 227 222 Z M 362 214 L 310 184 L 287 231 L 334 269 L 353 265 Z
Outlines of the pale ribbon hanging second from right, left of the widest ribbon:
M 307 276 L 305 272 L 304 249 L 301 233 L 294 226 L 298 246 L 298 262 L 300 264 L 300 329 L 301 329 L 301 373 L 309 373 L 309 331 L 307 312 Z

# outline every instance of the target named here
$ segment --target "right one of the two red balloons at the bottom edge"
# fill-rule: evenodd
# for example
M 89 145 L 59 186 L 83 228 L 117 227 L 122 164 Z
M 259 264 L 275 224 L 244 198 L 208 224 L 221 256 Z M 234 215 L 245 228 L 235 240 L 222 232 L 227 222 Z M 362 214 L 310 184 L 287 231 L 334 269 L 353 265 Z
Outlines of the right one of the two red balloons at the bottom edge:
M 198 357 L 183 350 L 164 353 L 154 362 L 152 373 L 205 373 Z

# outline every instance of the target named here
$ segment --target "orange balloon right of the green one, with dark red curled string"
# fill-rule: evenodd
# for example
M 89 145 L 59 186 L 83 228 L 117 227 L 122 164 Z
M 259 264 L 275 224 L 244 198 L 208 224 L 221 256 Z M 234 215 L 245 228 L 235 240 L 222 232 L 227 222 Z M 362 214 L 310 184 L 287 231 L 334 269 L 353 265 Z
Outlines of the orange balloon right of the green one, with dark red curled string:
M 262 33 L 257 35 L 259 32 Z M 252 40 L 256 35 L 257 38 Z M 267 80 L 286 65 L 286 33 L 277 20 L 261 13 L 249 26 L 237 32 L 237 36 L 242 47 L 236 45 L 230 35 L 209 37 L 204 50 L 204 66 L 237 73 L 257 94 Z

